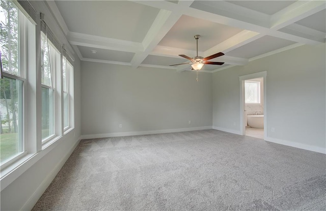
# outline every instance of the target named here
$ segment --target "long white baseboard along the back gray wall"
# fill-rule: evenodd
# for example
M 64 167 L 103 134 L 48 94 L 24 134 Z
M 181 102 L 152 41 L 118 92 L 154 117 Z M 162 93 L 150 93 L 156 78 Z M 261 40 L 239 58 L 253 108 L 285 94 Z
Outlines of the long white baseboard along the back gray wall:
M 168 130 L 152 130 L 152 131 L 134 131 L 134 132 L 122 132 L 122 133 L 90 134 L 90 135 L 82 135 L 82 139 L 107 138 L 107 137 L 119 137 L 119 136 L 138 136 L 138 135 L 150 135 L 150 134 L 160 134 L 160 133 L 175 133 L 175 132 L 208 130 L 208 129 L 212 129 L 212 126 L 195 127 L 195 128 L 178 128 L 178 129 L 168 129 Z

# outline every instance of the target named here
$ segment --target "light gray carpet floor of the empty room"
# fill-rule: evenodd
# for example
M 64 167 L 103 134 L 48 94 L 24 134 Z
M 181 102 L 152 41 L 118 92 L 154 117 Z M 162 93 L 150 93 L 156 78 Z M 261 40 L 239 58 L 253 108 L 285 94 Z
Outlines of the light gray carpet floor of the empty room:
M 33 210 L 325 210 L 326 155 L 217 130 L 80 141 Z

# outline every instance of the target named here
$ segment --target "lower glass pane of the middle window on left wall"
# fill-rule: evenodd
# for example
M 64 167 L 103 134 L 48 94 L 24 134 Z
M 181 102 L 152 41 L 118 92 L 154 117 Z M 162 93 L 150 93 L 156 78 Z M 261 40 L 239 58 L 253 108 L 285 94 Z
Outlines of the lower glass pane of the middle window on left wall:
M 42 87 L 42 140 L 54 134 L 53 90 Z

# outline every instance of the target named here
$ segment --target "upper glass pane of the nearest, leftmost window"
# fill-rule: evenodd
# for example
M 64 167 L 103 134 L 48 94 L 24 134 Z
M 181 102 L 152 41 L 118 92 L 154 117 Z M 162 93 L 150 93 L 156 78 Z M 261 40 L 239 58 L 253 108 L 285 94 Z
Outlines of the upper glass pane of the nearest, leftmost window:
M 18 71 L 18 9 L 10 1 L 0 2 L 0 50 L 3 71 L 20 75 Z

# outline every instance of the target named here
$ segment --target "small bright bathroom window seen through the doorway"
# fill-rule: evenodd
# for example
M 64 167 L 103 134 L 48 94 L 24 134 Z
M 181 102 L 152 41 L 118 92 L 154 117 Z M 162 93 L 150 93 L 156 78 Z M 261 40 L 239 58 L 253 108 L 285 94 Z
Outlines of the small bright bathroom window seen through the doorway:
M 246 104 L 260 104 L 260 81 L 245 81 Z

